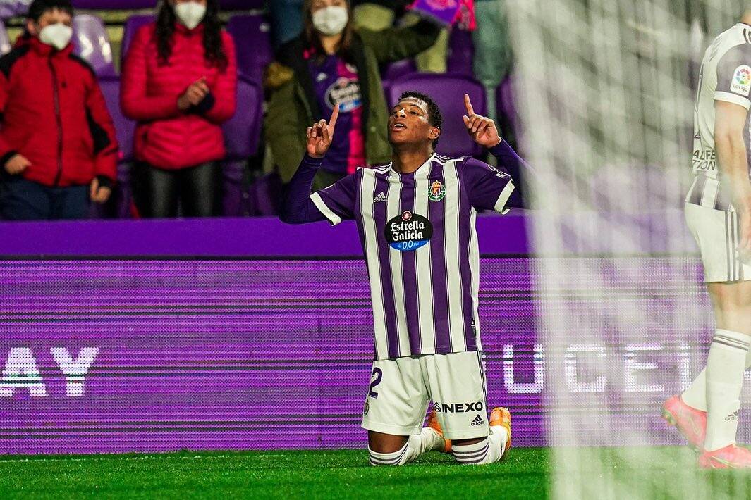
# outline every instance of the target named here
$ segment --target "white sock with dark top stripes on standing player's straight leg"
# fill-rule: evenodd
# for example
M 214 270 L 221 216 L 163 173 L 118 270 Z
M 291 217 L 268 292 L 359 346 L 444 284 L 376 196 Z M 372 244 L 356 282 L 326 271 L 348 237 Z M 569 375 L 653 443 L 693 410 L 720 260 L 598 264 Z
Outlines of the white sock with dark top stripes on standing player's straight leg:
M 751 337 L 717 330 L 707 356 L 707 439 L 704 449 L 718 450 L 735 443 L 740 389 Z

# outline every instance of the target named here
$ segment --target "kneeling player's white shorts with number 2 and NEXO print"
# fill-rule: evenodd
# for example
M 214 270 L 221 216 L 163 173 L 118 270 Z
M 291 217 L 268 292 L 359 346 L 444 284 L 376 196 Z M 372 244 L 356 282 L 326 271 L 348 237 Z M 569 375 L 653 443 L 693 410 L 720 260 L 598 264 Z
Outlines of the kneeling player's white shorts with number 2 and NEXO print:
M 373 361 L 363 429 L 419 434 L 433 401 L 446 439 L 488 436 L 481 352 L 454 352 Z

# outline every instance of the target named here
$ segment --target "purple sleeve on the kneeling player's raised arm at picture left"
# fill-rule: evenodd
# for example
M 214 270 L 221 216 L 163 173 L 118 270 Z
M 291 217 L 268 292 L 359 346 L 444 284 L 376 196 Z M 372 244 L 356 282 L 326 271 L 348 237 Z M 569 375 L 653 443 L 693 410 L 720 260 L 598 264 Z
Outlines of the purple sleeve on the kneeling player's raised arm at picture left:
M 328 220 L 332 226 L 354 218 L 354 175 L 342 178 L 326 189 L 310 194 L 320 158 L 307 154 L 287 186 L 279 218 L 289 224 Z

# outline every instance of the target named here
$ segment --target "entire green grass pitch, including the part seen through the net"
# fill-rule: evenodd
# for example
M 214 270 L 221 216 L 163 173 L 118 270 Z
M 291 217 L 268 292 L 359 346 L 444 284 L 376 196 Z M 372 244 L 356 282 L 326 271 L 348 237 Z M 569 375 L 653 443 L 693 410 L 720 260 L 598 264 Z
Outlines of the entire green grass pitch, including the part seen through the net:
M 582 460 L 558 475 L 549 448 L 513 448 L 489 466 L 433 452 L 398 468 L 368 466 L 363 450 L 0 456 L 0 499 L 545 499 L 553 479 L 587 484 L 603 470 L 629 498 L 692 498 L 697 480 L 711 499 L 751 496 L 751 473 L 698 471 L 686 447 L 653 448 L 659 463 L 629 459 L 644 448 L 590 450 L 599 472 Z M 610 493 L 598 487 L 587 500 L 621 497 Z

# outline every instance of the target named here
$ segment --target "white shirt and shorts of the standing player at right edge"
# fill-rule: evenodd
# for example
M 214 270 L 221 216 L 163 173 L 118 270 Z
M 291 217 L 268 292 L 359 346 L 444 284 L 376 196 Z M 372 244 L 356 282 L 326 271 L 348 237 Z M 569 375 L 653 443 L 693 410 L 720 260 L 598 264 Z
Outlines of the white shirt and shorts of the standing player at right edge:
M 704 264 L 704 280 L 751 280 L 751 262 L 741 262 L 738 216 L 728 186 L 721 183 L 714 145 L 716 100 L 751 107 L 751 25 L 739 22 L 719 34 L 704 52 L 694 105 L 694 182 L 686 195 L 686 223 Z M 751 151 L 751 121 L 743 133 Z

